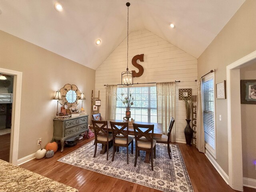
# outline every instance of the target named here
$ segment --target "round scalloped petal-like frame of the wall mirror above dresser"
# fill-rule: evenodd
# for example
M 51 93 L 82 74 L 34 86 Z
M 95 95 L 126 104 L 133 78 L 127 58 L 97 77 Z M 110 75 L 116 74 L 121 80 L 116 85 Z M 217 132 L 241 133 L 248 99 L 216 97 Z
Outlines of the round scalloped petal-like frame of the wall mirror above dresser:
M 73 102 L 73 103 L 68 102 L 68 100 L 66 98 L 66 94 L 70 90 L 73 90 L 74 92 L 76 92 L 76 101 Z M 60 104 L 64 105 L 66 103 L 68 108 L 76 107 L 79 104 L 80 98 L 81 98 L 80 90 L 77 88 L 76 85 L 71 85 L 71 84 L 64 85 L 64 87 L 60 89 L 60 95 L 61 95 L 61 98 L 62 98 L 61 100 L 59 100 Z

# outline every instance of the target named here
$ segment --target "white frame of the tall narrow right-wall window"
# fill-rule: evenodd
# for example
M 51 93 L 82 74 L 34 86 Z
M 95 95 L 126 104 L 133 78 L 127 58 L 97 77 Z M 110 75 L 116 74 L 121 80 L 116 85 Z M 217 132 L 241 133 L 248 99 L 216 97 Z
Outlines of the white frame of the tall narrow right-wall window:
M 213 97 L 214 97 L 214 149 L 212 148 L 212 146 L 210 146 L 210 144 L 208 144 L 205 140 L 204 140 L 204 143 L 205 143 L 205 148 L 206 150 L 215 158 L 217 159 L 217 142 L 216 142 L 216 138 L 217 138 L 217 134 L 216 134 L 216 86 L 215 86 L 215 73 L 210 73 L 206 76 L 204 76 L 202 78 L 202 87 L 203 87 L 203 82 L 206 82 L 210 79 L 213 79 Z M 203 103 L 203 109 L 202 109 L 202 114 L 204 114 L 204 90 L 202 88 L 202 103 Z M 203 115 L 203 121 L 204 121 L 204 115 Z M 203 122 L 203 126 L 204 126 L 204 122 Z

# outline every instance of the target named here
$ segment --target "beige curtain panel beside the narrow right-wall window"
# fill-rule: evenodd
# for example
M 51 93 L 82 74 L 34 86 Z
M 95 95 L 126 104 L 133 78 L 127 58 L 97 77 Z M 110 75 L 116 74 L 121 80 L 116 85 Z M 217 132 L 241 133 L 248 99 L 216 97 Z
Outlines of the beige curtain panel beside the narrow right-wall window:
M 205 153 L 202 106 L 202 78 L 199 78 L 197 80 L 196 148 L 198 148 L 198 151 Z

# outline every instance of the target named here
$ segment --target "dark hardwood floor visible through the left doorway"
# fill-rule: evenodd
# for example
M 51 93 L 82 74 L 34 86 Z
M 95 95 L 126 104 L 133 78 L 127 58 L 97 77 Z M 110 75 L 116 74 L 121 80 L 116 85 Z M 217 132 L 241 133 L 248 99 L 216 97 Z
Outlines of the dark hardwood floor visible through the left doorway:
M 0 159 L 9 162 L 11 134 L 0 135 Z

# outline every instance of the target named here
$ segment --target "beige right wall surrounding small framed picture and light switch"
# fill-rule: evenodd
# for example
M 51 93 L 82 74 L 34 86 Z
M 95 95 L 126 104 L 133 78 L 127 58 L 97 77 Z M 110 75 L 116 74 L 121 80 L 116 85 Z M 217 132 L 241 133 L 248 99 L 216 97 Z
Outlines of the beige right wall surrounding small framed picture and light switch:
M 198 58 L 198 76 L 216 69 L 215 82 L 226 80 L 226 66 L 256 50 L 256 1 L 246 0 Z M 228 174 L 227 100 L 216 100 L 217 159 Z

